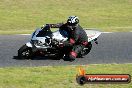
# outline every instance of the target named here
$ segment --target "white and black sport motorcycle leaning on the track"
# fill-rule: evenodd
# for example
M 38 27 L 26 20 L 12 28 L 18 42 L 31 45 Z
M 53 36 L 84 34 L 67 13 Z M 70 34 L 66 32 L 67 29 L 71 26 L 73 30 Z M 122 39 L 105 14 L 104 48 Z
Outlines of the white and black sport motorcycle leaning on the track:
M 95 30 L 85 30 L 88 36 L 88 45 L 78 54 L 77 57 L 83 57 L 87 55 L 91 48 L 92 42 L 96 44 L 97 38 L 101 35 L 101 32 Z M 32 59 L 35 56 L 53 56 L 56 59 L 61 59 L 66 55 L 66 52 L 62 52 L 61 48 L 57 45 L 67 41 L 66 31 L 58 29 L 55 32 L 51 30 L 43 30 L 37 28 L 31 35 L 29 42 L 24 44 L 18 50 L 18 57 L 20 59 Z

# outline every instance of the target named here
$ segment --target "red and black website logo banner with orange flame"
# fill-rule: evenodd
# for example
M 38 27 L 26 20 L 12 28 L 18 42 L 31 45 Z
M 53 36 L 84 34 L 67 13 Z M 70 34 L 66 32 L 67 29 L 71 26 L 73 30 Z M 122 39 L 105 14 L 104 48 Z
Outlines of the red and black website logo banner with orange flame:
M 76 81 L 80 85 L 86 83 L 130 83 L 131 76 L 129 74 L 86 74 L 85 70 L 80 67 Z

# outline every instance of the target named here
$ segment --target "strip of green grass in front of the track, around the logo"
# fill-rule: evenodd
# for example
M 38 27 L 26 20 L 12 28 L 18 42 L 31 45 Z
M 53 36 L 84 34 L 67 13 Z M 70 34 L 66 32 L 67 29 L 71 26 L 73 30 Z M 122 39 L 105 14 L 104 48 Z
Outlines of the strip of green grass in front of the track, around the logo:
M 0 88 L 132 88 L 129 84 L 76 83 L 79 66 L 0 68 Z M 82 66 L 87 74 L 130 74 L 132 64 L 98 64 Z

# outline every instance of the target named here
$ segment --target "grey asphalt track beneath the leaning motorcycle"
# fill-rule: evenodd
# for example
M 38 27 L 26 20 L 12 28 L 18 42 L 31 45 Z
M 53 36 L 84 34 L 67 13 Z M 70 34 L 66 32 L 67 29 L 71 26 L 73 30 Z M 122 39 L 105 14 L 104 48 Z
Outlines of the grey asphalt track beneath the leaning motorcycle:
M 50 58 L 19 60 L 16 57 L 17 50 L 29 38 L 29 35 L 0 35 L 0 67 L 132 63 L 131 32 L 102 33 L 98 39 L 99 44 L 93 43 L 91 52 L 85 58 L 77 58 L 74 62 Z

